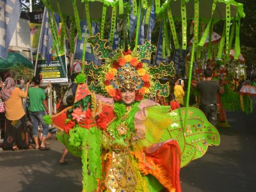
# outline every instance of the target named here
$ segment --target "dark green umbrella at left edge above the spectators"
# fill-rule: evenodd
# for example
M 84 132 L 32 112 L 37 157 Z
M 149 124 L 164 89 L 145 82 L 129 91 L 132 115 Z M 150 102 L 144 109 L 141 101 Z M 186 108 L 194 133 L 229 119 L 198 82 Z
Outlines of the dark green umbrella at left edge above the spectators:
M 20 67 L 20 65 L 33 69 L 33 63 L 17 52 L 8 52 L 7 60 L 0 58 L 0 69 L 6 69 L 8 67 Z

